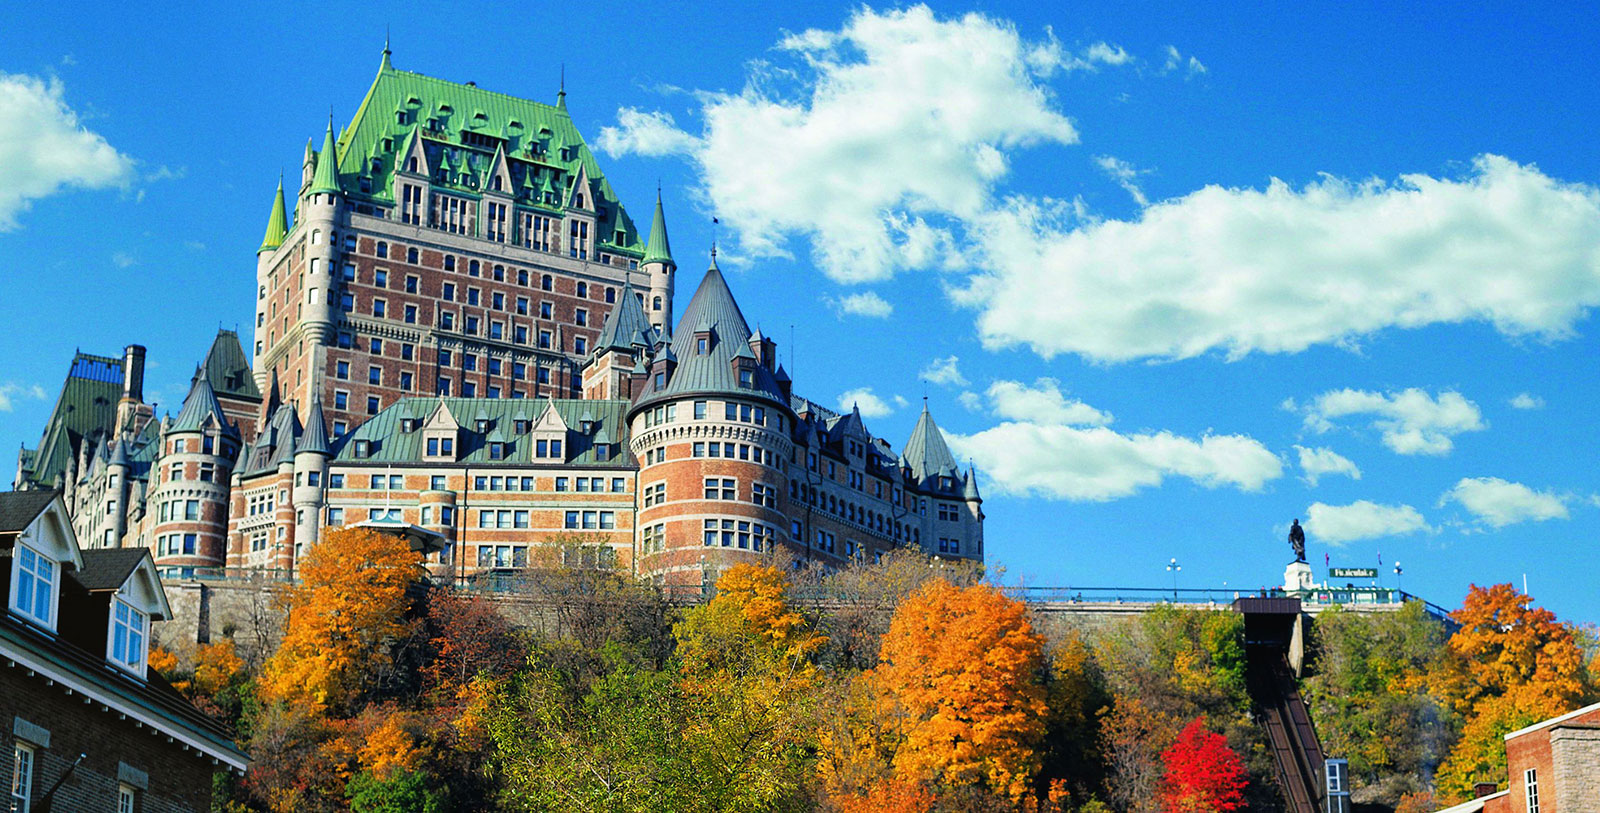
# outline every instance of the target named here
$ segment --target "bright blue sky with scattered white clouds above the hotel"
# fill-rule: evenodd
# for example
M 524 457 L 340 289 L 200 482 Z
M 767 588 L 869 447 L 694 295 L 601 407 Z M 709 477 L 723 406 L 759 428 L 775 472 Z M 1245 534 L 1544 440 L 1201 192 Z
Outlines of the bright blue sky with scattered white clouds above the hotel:
M 803 394 L 894 443 L 926 395 L 1008 581 L 1160 587 L 1176 557 L 1254 589 L 1299 517 L 1318 570 L 1381 552 L 1448 607 L 1526 575 L 1600 621 L 1600 11 L 576 14 L 10 10 L 0 443 L 37 440 L 74 347 L 149 346 L 174 406 L 248 328 L 277 173 L 389 26 L 397 67 L 520 96 L 565 64 L 635 219 L 662 184 L 682 285 L 718 216 Z

